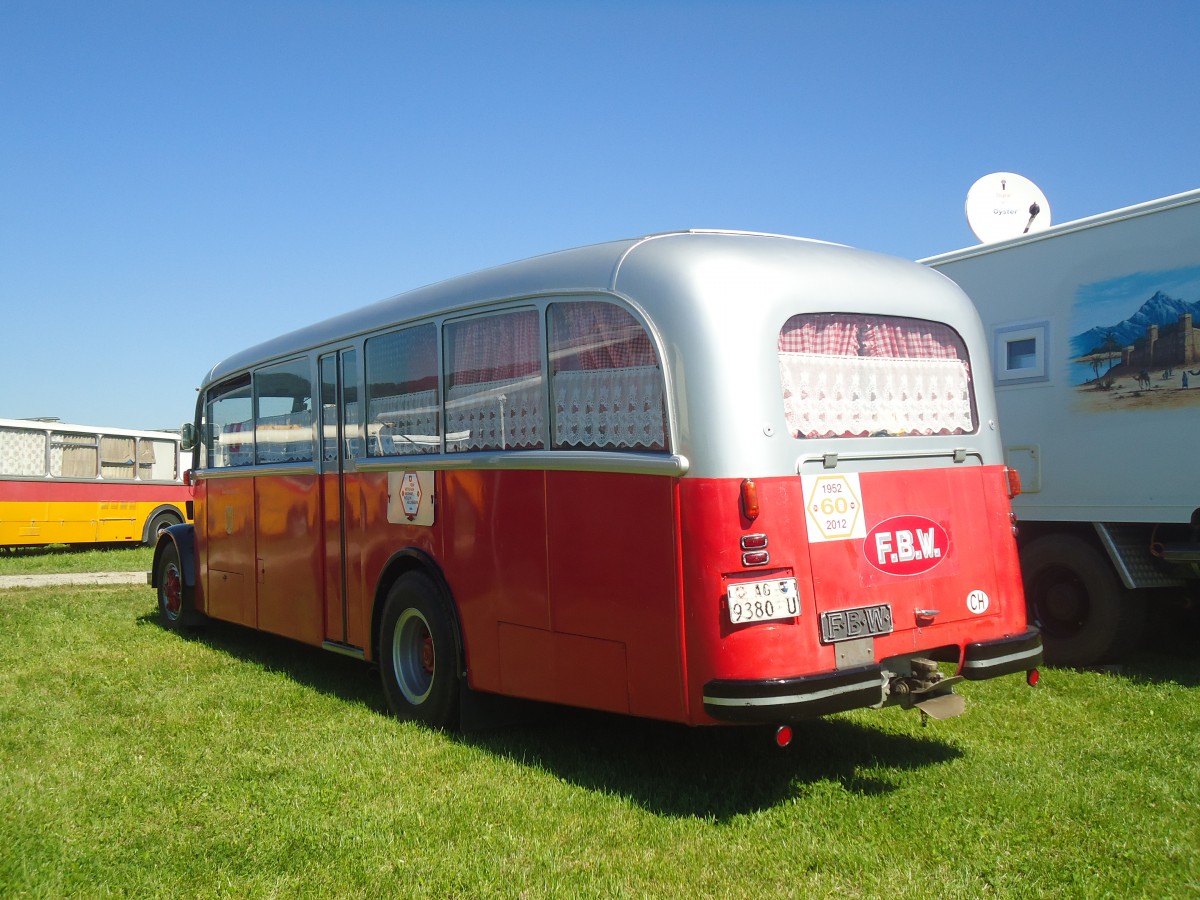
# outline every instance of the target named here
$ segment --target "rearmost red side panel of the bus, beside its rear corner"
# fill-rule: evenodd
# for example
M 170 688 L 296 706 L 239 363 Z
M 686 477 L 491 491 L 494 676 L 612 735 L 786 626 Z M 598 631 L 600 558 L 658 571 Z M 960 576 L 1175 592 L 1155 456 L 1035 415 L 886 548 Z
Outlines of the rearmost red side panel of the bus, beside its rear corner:
M 674 485 L 655 475 L 547 473 L 551 628 L 566 650 L 554 673 L 558 702 L 682 718 Z M 574 636 L 608 647 L 584 655 Z M 590 685 L 589 694 L 570 696 L 571 685 Z

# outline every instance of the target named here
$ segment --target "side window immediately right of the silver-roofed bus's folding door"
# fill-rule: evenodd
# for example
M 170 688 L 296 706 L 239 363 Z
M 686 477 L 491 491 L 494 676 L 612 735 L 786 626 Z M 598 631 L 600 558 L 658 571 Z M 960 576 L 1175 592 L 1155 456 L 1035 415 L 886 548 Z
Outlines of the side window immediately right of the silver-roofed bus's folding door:
M 366 368 L 367 455 L 439 452 L 437 329 L 418 325 L 370 338 Z

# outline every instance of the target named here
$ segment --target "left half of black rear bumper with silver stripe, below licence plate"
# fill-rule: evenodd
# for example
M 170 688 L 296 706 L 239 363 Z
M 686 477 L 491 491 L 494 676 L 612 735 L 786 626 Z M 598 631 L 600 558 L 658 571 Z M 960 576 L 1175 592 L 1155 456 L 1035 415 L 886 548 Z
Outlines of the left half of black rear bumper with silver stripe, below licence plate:
M 704 685 L 704 712 L 728 722 L 786 722 L 876 707 L 886 690 L 881 666 L 798 678 L 716 679 Z

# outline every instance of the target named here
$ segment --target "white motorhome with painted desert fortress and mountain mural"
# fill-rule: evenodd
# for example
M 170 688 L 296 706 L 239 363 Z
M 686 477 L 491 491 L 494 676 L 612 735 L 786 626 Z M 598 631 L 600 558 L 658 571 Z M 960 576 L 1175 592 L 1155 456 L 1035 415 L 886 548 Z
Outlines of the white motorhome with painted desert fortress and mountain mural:
M 1116 658 L 1200 587 L 1200 191 L 922 262 L 991 341 L 1046 660 Z

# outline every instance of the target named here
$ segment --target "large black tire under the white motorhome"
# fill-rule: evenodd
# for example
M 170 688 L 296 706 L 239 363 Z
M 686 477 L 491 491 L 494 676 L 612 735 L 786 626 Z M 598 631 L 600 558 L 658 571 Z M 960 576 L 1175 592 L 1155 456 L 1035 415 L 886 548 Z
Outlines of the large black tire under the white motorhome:
M 1094 666 L 1141 636 L 1146 604 L 1082 538 L 1050 534 L 1032 541 L 1021 551 L 1021 576 L 1048 665 Z

